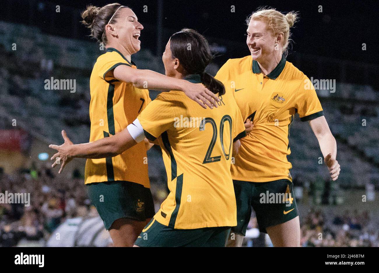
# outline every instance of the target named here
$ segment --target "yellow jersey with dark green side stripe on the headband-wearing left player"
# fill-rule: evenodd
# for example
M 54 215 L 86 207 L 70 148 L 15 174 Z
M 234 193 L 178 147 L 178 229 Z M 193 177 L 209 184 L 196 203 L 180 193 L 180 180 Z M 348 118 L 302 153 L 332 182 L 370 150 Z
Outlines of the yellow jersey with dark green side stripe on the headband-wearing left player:
M 151 102 L 149 90 L 135 88 L 132 83 L 112 77 L 110 71 L 122 64 L 136 68 L 119 51 L 108 48 L 97 58 L 92 70 L 89 81 L 91 142 L 121 132 Z M 150 188 L 147 164 L 144 164 L 146 158 L 146 147 L 142 142 L 115 157 L 88 159 L 85 184 L 124 180 Z

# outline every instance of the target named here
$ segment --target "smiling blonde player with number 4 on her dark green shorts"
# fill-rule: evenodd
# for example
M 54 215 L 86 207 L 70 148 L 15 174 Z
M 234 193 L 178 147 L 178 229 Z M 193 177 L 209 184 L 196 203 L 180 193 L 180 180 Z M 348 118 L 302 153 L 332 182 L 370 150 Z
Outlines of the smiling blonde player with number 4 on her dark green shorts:
M 230 246 L 241 246 L 251 207 L 260 231 L 268 233 L 274 246 L 300 245 L 292 165 L 287 160 L 295 113 L 309 122 L 332 180 L 340 174 L 336 141 L 315 89 L 308 88 L 313 87 L 308 77 L 285 59 L 290 28 L 296 19 L 296 13 L 284 15 L 275 9 L 261 8 L 252 13 L 247 20 L 246 40 L 251 55 L 228 60 L 216 75 L 225 86 L 232 86 L 226 92 L 234 94 L 244 120 L 254 122 L 252 132 L 240 140 L 232 165 L 238 224 L 232 228 L 236 240 L 229 240 Z M 271 199 L 266 196 L 270 194 L 283 198 Z

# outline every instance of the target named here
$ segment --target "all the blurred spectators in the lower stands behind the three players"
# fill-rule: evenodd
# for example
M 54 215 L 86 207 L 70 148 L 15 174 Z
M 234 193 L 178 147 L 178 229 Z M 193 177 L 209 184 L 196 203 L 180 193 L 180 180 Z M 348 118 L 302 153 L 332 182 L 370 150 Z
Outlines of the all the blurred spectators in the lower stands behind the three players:
M 166 190 L 163 184 L 153 182 L 156 210 L 166 198 Z M 55 176 L 48 165 L 37 168 L 33 164 L 15 174 L 5 174 L 0 168 L 0 193 L 5 191 L 31 193 L 31 200 L 30 206 L 0 203 L 0 246 L 16 246 L 23 239 L 43 245 L 67 218 L 85 216 L 91 210 L 80 174 L 74 172 L 72 179 L 65 179 Z M 302 246 L 379 246 L 378 230 L 367 211 L 327 215 L 314 209 L 301 215 Z M 268 237 L 258 232 L 254 215 L 246 241 L 247 246 L 271 246 Z

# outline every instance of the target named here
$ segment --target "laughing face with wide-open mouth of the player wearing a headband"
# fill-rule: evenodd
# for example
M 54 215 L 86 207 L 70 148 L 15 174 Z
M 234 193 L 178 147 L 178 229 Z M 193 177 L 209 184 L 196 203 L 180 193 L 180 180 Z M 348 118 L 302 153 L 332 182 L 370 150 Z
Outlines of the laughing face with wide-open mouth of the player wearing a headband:
M 130 55 L 138 52 L 141 49 L 141 41 L 139 36 L 143 25 L 138 22 L 136 14 L 130 8 L 121 8 L 117 11 L 117 20 L 113 25 L 113 30 L 108 33 L 108 41 L 114 37 L 119 38 L 119 42 Z

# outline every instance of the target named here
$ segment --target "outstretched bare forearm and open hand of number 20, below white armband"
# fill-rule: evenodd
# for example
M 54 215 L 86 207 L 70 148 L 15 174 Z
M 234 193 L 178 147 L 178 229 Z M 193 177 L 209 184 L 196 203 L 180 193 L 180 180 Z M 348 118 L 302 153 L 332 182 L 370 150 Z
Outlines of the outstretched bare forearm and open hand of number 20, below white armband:
M 64 139 L 64 143 L 62 145 L 49 145 L 50 148 L 56 149 L 58 151 L 55 155 L 53 155 L 51 160 L 55 160 L 52 167 L 55 167 L 57 164 L 62 163 L 59 173 L 61 173 L 64 166 L 69 163 L 74 157 L 114 157 L 137 144 L 137 142 L 128 132 L 127 128 L 119 133 L 116 133 L 114 136 L 83 144 L 73 144 L 67 137 L 64 130 L 62 131 L 62 137 Z M 56 158 L 59 158 L 59 160 L 56 160 Z

